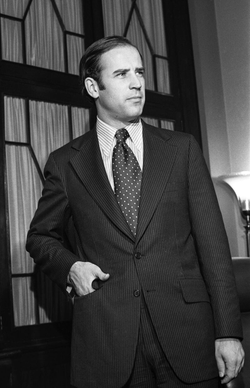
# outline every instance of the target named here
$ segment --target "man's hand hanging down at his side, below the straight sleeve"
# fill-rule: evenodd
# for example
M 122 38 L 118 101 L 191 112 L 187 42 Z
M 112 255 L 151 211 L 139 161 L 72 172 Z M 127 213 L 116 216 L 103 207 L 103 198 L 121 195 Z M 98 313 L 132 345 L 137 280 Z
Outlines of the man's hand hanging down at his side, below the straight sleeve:
M 222 384 L 229 383 L 241 371 L 245 353 L 240 340 L 219 338 L 215 340 L 215 357 Z

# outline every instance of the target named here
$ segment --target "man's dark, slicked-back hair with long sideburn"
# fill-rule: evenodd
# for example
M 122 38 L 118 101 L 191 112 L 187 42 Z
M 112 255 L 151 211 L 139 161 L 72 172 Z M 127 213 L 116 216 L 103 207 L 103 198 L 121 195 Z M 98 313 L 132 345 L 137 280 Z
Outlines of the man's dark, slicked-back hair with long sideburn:
M 132 47 L 135 47 L 135 49 L 137 49 L 137 47 L 133 45 L 133 43 L 131 43 L 124 36 L 112 35 L 112 36 L 106 36 L 106 38 L 99 39 L 96 42 L 92 43 L 92 45 L 89 46 L 87 50 L 84 52 L 84 54 L 82 55 L 82 58 L 79 64 L 80 89 L 81 89 L 82 95 L 85 95 L 88 98 L 88 100 L 90 100 L 93 103 L 94 103 L 94 99 L 88 94 L 84 81 L 87 77 L 91 77 L 98 83 L 100 90 L 105 89 L 105 86 L 103 85 L 102 79 L 101 79 L 100 57 L 101 57 L 101 54 L 103 54 L 104 52 L 112 50 L 118 46 L 132 46 Z M 141 54 L 140 54 L 140 57 L 142 58 Z

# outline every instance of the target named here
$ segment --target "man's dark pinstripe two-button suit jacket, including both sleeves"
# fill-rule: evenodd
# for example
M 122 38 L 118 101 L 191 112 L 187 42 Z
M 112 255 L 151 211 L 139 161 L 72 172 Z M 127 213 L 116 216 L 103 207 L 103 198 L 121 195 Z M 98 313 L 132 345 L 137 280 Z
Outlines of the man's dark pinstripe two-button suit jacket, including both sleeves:
M 143 142 L 136 238 L 108 182 L 95 129 L 53 152 L 45 166 L 27 250 L 64 292 L 75 261 L 110 274 L 93 293 L 75 297 L 77 387 L 117 388 L 130 376 L 140 319 L 135 290 L 144 294 L 161 346 L 185 382 L 216 377 L 214 339 L 242 336 L 228 241 L 197 143 L 145 123 Z M 74 253 L 65 234 L 70 216 Z

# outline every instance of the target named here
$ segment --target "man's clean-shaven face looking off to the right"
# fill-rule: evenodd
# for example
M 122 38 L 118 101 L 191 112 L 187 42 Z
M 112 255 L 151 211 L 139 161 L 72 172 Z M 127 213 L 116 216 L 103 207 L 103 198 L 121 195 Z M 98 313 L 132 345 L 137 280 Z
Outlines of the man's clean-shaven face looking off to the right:
M 144 68 L 132 46 L 115 47 L 101 55 L 101 80 L 96 108 L 98 117 L 121 128 L 142 113 L 145 102 Z

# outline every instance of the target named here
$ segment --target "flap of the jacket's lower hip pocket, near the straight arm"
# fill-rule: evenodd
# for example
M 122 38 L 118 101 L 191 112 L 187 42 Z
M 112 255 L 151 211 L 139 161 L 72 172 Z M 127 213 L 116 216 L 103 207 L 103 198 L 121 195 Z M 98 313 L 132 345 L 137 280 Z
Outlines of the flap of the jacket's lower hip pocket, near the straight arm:
M 182 296 L 186 303 L 209 302 L 209 295 L 203 279 L 179 279 Z

